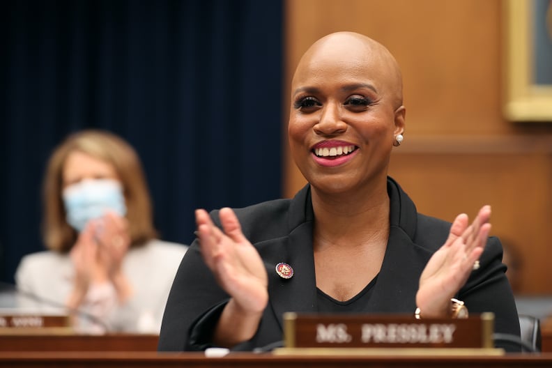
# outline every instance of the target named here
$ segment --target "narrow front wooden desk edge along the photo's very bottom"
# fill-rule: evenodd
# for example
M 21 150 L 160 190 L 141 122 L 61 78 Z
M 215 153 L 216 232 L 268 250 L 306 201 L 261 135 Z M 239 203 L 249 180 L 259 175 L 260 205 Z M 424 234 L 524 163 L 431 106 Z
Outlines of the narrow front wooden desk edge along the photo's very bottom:
M 0 352 L 0 367 L 139 367 L 139 368 L 530 368 L 552 367 L 552 354 L 505 356 L 275 356 L 236 353 L 205 358 L 202 353 L 153 352 Z

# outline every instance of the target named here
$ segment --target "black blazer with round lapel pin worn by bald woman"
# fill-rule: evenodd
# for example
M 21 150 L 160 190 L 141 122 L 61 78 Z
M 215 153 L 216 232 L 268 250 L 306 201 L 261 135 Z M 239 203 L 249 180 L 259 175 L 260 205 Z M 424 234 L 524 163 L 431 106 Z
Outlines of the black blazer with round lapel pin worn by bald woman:
M 413 314 L 420 274 L 431 255 L 445 243 L 451 224 L 417 213 L 413 201 L 392 178 L 388 178 L 388 194 L 388 247 L 365 312 Z M 269 302 L 259 330 L 249 342 L 235 347 L 252 350 L 282 340 L 284 312 L 316 312 L 310 186 L 293 199 L 277 199 L 235 211 L 245 237 L 261 254 L 268 272 Z M 220 225 L 217 210 L 211 217 Z M 470 313 L 494 312 L 496 332 L 519 336 L 516 305 L 502 254 L 500 241 L 489 238 L 479 270 L 473 272 L 457 298 L 466 302 Z M 275 272 L 280 262 L 293 268 L 291 279 Z M 210 337 L 228 298 L 194 241 L 174 279 L 158 350 L 204 350 L 213 346 Z

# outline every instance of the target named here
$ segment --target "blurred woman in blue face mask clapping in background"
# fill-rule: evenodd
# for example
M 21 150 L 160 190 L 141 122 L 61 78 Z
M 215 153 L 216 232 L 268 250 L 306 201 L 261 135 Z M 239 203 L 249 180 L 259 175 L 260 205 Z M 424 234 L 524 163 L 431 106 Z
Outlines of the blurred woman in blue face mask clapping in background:
M 63 305 L 77 332 L 159 333 L 187 246 L 157 238 L 135 150 L 110 132 L 70 135 L 49 159 L 43 200 L 48 250 L 17 268 L 20 306 Z

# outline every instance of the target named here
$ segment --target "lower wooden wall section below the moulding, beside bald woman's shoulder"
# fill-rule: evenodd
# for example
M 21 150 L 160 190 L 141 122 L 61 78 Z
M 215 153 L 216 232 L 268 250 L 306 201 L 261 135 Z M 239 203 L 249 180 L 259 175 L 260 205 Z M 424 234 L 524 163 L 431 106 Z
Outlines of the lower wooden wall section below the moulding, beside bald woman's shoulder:
M 544 143 L 552 148 L 552 140 Z M 515 272 L 514 290 L 549 293 L 552 150 L 506 152 L 493 147 L 459 153 L 424 144 L 426 149 L 395 149 L 390 167 L 390 176 L 401 183 L 417 209 L 452 221 L 459 213 L 473 217 L 482 205 L 490 204 L 491 235 L 502 240 L 519 264 L 517 268 L 511 263 L 509 270 Z

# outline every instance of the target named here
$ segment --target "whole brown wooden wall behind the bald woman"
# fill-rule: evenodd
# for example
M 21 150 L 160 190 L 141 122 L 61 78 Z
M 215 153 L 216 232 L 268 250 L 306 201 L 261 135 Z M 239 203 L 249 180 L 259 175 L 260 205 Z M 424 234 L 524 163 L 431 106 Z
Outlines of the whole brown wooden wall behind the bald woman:
M 520 254 L 518 292 L 552 293 L 552 124 L 503 117 L 503 25 L 500 0 L 287 0 L 284 116 L 293 70 L 315 40 L 356 31 L 380 41 L 401 66 L 407 109 L 390 174 L 428 215 L 452 220 L 491 204 L 493 234 Z M 286 144 L 284 155 L 291 197 L 305 180 Z

